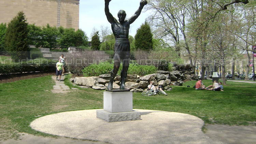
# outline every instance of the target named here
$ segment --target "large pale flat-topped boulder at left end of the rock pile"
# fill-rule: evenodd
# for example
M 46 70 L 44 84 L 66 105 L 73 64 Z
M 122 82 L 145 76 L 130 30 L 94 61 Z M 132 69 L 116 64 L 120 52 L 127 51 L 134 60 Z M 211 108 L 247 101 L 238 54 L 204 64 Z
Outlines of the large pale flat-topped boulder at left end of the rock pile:
M 93 85 L 98 84 L 98 79 L 98 76 L 75 77 L 74 83 L 77 85 L 92 87 Z

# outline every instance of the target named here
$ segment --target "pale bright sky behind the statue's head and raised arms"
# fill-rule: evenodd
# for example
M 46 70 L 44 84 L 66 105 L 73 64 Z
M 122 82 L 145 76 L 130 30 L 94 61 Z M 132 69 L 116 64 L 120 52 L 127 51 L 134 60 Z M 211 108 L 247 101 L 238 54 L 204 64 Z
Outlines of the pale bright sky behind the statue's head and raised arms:
M 119 10 L 126 12 L 126 18 L 130 18 L 139 8 L 141 0 L 112 0 L 109 3 L 110 13 L 116 18 Z M 111 24 L 108 22 L 104 7 L 104 0 L 80 0 L 79 7 L 79 28 L 82 29 L 87 37 L 95 27 L 100 30 L 100 26 L 108 26 L 111 29 Z M 130 25 L 129 35 L 135 36 L 136 31 L 145 22 L 148 11 L 145 10 L 145 6 L 140 16 Z M 111 30 L 112 31 L 112 30 Z

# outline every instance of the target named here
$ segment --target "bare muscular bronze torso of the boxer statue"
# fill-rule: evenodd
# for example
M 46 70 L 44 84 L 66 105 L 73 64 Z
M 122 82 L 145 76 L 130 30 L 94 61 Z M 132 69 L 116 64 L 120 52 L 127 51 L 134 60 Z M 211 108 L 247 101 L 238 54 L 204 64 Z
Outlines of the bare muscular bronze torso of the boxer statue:
M 123 24 L 115 20 L 115 22 L 111 24 L 111 28 L 116 39 L 128 39 L 130 28 L 128 20 L 125 20 Z

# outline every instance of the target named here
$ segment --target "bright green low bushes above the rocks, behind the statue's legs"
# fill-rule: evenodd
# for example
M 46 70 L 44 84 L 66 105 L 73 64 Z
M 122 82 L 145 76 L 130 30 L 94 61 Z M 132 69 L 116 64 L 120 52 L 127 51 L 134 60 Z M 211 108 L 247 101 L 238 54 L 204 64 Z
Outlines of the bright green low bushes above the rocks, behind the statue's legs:
M 90 66 L 83 69 L 84 76 L 99 76 L 101 74 L 110 73 L 114 65 L 109 62 L 100 62 L 99 64 L 91 64 Z M 117 72 L 120 74 L 122 64 Z M 131 63 L 128 69 L 128 74 L 147 75 L 156 73 L 157 68 L 154 66 L 142 66 L 139 64 Z

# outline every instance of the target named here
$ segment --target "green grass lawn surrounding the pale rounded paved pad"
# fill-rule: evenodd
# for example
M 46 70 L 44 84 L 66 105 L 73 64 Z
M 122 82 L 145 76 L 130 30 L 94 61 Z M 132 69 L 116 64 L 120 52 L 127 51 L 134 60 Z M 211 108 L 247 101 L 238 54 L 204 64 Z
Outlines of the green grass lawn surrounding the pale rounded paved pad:
M 69 77 L 66 76 L 65 83 Z M 227 82 L 224 91 L 209 91 L 195 90 L 192 88 L 195 83 L 173 86 L 168 96 L 133 93 L 133 108 L 191 114 L 208 124 L 248 125 L 256 120 L 256 84 Z M 203 83 L 210 85 L 211 81 Z M 29 127 L 41 116 L 103 109 L 103 90 L 80 89 L 55 94 L 51 92 L 53 85 L 51 76 L 0 84 L 0 140 L 15 138 L 16 132 L 46 135 Z

